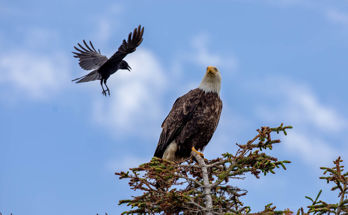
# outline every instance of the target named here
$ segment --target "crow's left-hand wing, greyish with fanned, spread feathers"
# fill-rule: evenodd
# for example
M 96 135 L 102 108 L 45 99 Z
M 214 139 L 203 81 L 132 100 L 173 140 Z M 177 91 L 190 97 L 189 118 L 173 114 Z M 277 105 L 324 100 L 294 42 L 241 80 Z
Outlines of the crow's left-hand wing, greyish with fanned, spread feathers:
M 101 65 L 103 65 L 103 63 L 108 61 L 108 58 L 105 55 L 102 55 L 99 49 L 98 49 L 99 53 L 94 49 L 92 42 L 89 41 L 89 43 L 90 43 L 90 46 L 92 46 L 93 50 L 89 48 L 89 46 L 84 40 L 84 44 L 86 45 L 88 50 L 78 43 L 78 45 L 80 46 L 81 49 L 83 49 L 83 51 L 74 46 L 74 48 L 81 53 L 72 52 L 76 54 L 74 55 L 75 58 L 79 58 L 80 67 L 85 70 L 96 69 L 100 67 Z

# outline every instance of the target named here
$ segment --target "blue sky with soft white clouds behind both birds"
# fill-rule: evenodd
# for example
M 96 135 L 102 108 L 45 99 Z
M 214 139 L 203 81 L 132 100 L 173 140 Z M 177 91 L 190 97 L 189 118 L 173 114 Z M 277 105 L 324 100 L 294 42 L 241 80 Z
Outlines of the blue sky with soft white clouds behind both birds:
M 260 126 L 292 125 L 270 155 L 290 160 L 233 185 L 252 212 L 310 204 L 320 166 L 347 165 L 347 1 L 1 1 L 0 212 L 119 214 L 135 195 L 114 172 L 148 162 L 177 97 L 209 65 L 223 109 L 206 158 L 235 152 Z M 108 79 L 110 97 L 73 58 L 83 39 L 110 57 L 139 24 L 144 40 Z

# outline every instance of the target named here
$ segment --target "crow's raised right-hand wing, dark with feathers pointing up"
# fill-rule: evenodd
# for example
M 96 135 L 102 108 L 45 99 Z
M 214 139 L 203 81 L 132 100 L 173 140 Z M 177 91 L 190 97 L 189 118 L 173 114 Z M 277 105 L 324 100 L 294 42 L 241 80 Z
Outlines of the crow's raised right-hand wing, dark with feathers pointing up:
M 110 62 L 116 65 L 121 62 L 121 60 L 126 57 L 127 54 L 134 52 L 136 50 L 136 47 L 138 47 L 143 41 L 143 33 L 144 27 L 141 28 L 141 25 L 139 25 L 138 28 L 134 29 L 133 37 L 132 32 L 130 32 L 127 42 L 126 40 L 123 40 L 122 45 L 118 48 L 118 51 L 111 56 L 111 58 L 108 60 L 108 63 Z

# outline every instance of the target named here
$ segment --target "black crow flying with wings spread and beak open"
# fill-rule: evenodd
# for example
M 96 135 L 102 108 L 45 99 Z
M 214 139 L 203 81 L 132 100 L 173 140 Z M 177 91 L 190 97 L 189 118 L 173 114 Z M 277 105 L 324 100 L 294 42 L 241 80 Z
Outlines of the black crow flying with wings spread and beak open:
M 144 33 L 144 27 L 141 28 L 141 26 L 139 25 L 137 29 L 136 28 L 134 29 L 133 37 L 132 37 L 132 32 L 130 32 L 128 35 L 127 42 L 126 40 L 123 40 L 122 45 L 118 48 L 118 51 L 114 53 L 110 59 L 107 58 L 105 55 L 102 55 L 99 49 L 98 49 L 99 51 L 98 53 L 94 49 L 92 42 L 89 41 L 89 44 L 93 50 L 89 48 L 85 40 L 84 40 L 84 44 L 86 45 L 88 50 L 78 43 L 78 45 L 84 51 L 74 46 L 74 48 L 80 52 L 80 53 L 72 52 L 76 54 L 74 55 L 74 57 L 79 58 L 79 61 L 80 61 L 79 65 L 82 69 L 85 69 L 85 70 L 94 69 L 94 70 L 88 73 L 87 75 L 82 76 L 81 77 L 82 79 L 77 81 L 76 83 L 100 80 L 100 84 L 102 85 L 102 88 L 103 88 L 102 94 L 105 95 L 106 97 L 106 91 L 108 91 L 108 94 L 110 96 L 110 90 L 108 86 L 106 86 L 106 80 L 110 77 L 110 75 L 114 74 L 119 69 L 128 69 L 128 70 L 132 69 L 130 68 L 128 63 L 122 59 L 126 57 L 127 54 L 134 52 L 136 47 L 140 45 L 140 43 L 143 41 L 143 38 L 142 38 L 143 33 Z M 72 81 L 75 81 L 78 79 L 80 78 L 74 79 Z M 104 90 L 103 81 L 106 86 L 106 90 Z

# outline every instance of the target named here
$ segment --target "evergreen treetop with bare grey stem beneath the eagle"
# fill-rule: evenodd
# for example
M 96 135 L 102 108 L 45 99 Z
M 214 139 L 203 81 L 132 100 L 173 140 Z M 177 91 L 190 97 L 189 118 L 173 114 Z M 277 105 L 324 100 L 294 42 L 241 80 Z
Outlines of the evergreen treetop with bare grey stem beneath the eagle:
M 191 152 L 191 158 L 177 163 L 153 157 L 149 163 L 130 168 L 133 174 L 129 174 L 129 171 L 115 173 L 120 179 L 129 180 L 130 189 L 144 191 L 141 196 L 119 201 L 119 204 L 131 206 L 123 214 L 250 214 L 250 207 L 239 200 L 247 191 L 229 185 L 229 180 L 244 179 L 240 175 L 247 172 L 260 178 L 261 172 L 275 173 L 274 169 L 280 166 L 286 169 L 284 164 L 290 161 L 278 161 L 276 157 L 260 153 L 260 150 L 272 149 L 273 144 L 280 143 L 280 140 L 271 139 L 271 132 L 288 128 L 292 127 L 283 127 L 283 124 L 276 128 L 261 127 L 256 130 L 258 135 L 245 145 L 237 144 L 239 149 L 235 154 L 227 152 L 221 158 L 207 160 Z M 256 139 L 259 142 L 255 144 Z M 140 172 L 143 172 L 142 177 Z M 175 187 L 183 184 L 186 187 Z M 274 208 L 265 208 L 267 213 L 260 213 L 275 215 L 287 212 Z

